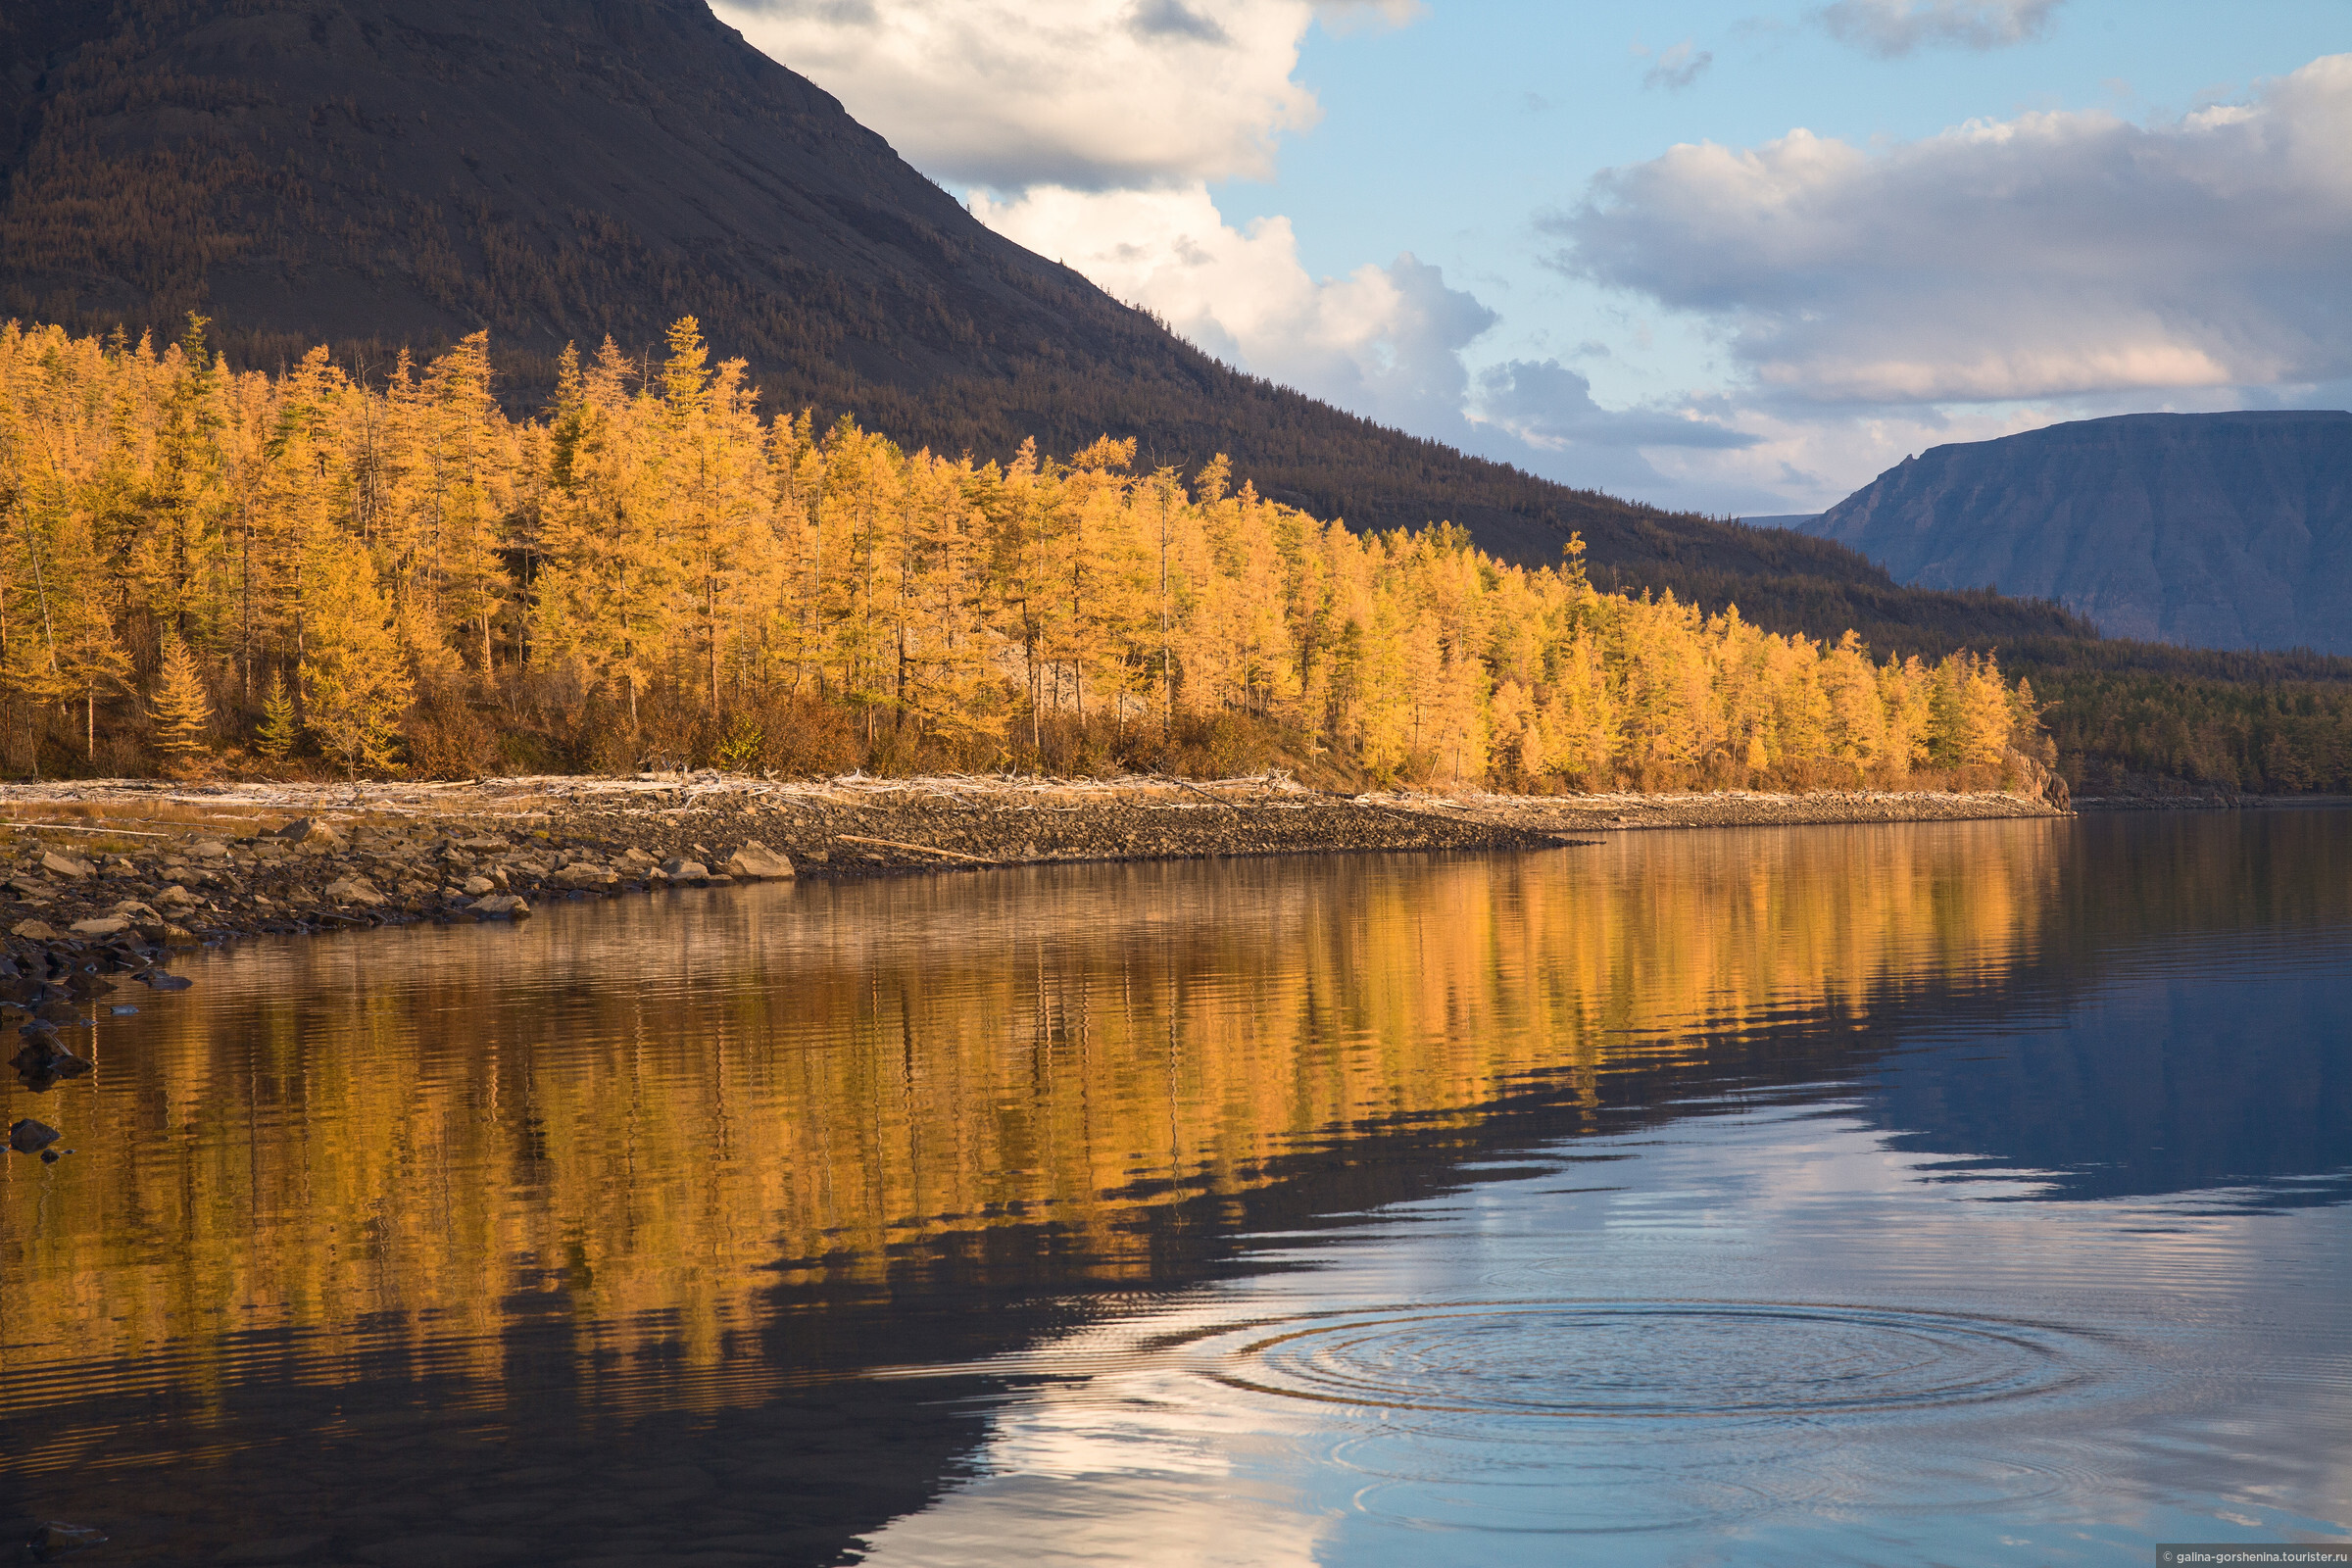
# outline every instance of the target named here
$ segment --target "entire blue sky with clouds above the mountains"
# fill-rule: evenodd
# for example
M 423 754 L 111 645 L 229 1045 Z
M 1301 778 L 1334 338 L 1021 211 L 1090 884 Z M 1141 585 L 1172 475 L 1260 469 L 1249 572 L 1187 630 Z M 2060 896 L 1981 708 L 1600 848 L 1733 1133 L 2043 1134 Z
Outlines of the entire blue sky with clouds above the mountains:
M 2352 404 L 2345 0 L 717 12 L 1228 364 L 1665 508 Z

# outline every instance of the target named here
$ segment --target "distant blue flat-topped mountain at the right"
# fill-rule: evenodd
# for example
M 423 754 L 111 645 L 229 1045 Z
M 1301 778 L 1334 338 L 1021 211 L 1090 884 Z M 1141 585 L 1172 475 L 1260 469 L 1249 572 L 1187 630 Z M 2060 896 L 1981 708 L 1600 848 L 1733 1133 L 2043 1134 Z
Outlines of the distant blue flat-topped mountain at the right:
M 1806 534 L 2110 637 L 2352 654 L 2352 414 L 2126 414 L 1936 447 Z

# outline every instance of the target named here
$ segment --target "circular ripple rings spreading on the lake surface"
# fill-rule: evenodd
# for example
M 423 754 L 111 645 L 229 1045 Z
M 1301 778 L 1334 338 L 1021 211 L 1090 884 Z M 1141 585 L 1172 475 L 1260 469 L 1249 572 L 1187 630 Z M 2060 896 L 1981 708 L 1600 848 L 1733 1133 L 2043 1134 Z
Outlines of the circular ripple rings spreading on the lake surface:
M 1816 1302 L 1465 1302 L 1301 1319 L 1211 1375 L 1463 1415 L 1825 1418 L 2025 1399 L 2089 1375 L 2049 1324 Z

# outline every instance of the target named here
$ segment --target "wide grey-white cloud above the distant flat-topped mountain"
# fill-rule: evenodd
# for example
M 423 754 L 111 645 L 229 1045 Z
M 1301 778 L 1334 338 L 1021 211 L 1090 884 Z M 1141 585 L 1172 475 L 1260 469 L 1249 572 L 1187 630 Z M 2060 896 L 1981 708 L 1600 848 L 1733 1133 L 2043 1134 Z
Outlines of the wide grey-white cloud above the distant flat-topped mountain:
M 1677 146 L 1548 221 L 1562 270 L 1715 322 L 1769 393 L 1999 402 L 2352 374 L 2352 54 L 2237 106 L 1884 153 Z

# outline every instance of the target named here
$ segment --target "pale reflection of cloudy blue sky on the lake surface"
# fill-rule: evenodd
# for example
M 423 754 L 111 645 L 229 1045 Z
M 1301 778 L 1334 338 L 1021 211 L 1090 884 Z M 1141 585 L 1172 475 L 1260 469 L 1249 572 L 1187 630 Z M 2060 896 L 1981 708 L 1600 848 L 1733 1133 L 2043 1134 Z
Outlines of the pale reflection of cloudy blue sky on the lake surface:
M 2352 1519 L 2352 1307 L 2331 1284 L 2352 1213 L 2296 1215 L 2288 1239 L 2246 1215 L 1983 1201 L 2020 1185 L 1933 1180 L 1818 1117 L 1618 1147 L 1635 1159 L 1277 1244 L 1263 1262 L 1308 1267 L 993 1363 L 1049 1382 L 868 1561 L 1550 1563 L 1595 1533 L 1609 1561 L 1806 1561 L 1858 1521 L 1882 1561 L 2098 1556 L 2232 1516 Z M 1602 1171 L 1618 1190 L 1592 1187 Z M 1470 1288 L 1550 1300 L 1510 1321 Z M 1571 1291 L 1625 1316 L 1545 1342 L 1545 1312 L 1576 1331 Z M 1221 1380 L 1235 1366 L 1242 1387 Z M 1743 1385 L 1788 1399 L 1740 1410 Z M 1698 1410 L 1717 1389 L 1696 1420 L 1541 1408 Z

